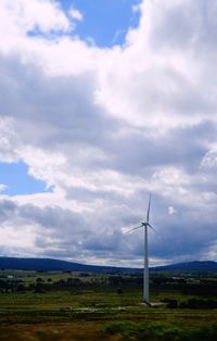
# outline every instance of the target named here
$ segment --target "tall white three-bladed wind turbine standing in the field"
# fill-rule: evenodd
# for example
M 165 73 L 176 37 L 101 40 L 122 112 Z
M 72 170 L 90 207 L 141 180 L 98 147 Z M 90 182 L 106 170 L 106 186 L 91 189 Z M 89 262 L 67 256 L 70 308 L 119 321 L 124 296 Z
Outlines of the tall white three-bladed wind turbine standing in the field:
M 143 273 L 143 302 L 151 306 L 149 296 L 149 255 L 148 255 L 148 228 L 152 228 L 155 232 L 156 230 L 150 224 L 150 209 L 151 209 L 151 194 L 149 198 L 149 205 L 146 211 L 146 220 L 141 222 L 141 225 L 132 228 L 126 233 L 131 233 L 132 231 L 143 227 L 144 228 L 144 273 Z

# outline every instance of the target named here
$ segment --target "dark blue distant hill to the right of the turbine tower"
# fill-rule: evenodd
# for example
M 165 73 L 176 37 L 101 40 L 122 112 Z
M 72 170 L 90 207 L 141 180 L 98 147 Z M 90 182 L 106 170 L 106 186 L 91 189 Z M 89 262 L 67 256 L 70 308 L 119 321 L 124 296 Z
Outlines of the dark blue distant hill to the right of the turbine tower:
M 203 261 L 203 262 L 188 262 L 171 264 L 166 266 L 152 267 L 151 271 L 188 271 L 188 273 L 206 273 L 217 271 L 217 262 Z

